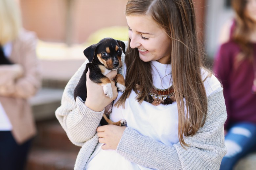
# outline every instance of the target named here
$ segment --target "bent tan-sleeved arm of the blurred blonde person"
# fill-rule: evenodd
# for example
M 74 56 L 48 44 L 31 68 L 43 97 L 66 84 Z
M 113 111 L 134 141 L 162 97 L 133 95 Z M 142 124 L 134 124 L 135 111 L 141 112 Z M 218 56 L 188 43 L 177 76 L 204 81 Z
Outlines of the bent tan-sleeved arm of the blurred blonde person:
M 36 43 L 35 33 L 25 30 L 14 41 L 12 53 L 21 58 L 14 56 L 18 63 L 4 66 L 8 70 L 1 75 L 5 82 L 0 85 L 0 95 L 27 99 L 34 96 L 41 87 L 41 67 L 36 55 Z

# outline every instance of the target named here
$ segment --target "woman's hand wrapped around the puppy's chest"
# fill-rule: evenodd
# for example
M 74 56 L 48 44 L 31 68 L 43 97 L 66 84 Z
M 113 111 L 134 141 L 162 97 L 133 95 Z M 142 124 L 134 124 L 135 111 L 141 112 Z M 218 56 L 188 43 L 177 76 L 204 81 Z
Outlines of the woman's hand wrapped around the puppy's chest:
M 111 71 L 105 75 L 109 80 L 111 80 L 111 87 L 113 91 L 112 99 L 105 96 L 103 86 L 96 84 L 89 79 L 89 72 L 90 70 L 86 73 L 87 98 L 84 104 L 91 110 L 100 112 L 105 108 L 105 106 L 117 98 L 117 87 L 115 86 L 114 80 L 112 80 L 115 78 L 117 72 Z

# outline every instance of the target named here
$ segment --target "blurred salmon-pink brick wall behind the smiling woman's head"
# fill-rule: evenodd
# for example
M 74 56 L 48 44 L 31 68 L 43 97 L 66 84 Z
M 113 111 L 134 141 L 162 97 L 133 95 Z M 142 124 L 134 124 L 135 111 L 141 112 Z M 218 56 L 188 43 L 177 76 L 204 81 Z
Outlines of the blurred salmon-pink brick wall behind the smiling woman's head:
M 39 39 L 67 44 L 83 43 L 99 28 L 127 26 L 127 0 L 19 0 L 24 27 Z M 205 0 L 194 0 L 203 39 Z

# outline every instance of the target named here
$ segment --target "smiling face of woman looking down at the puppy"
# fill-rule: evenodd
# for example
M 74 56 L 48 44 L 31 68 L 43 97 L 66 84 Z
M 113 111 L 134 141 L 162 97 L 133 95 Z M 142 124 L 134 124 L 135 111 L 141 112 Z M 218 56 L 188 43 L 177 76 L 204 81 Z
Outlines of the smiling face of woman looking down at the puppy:
M 148 15 L 126 16 L 129 27 L 130 47 L 138 48 L 144 62 L 158 61 L 170 64 L 171 42 L 165 30 L 160 28 Z

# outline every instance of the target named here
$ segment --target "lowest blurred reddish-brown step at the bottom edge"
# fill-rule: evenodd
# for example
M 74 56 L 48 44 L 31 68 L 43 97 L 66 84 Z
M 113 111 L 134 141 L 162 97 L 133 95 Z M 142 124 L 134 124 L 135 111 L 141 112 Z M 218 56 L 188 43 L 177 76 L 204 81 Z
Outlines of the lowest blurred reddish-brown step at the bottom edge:
M 26 170 L 73 170 L 78 152 L 33 148 Z

